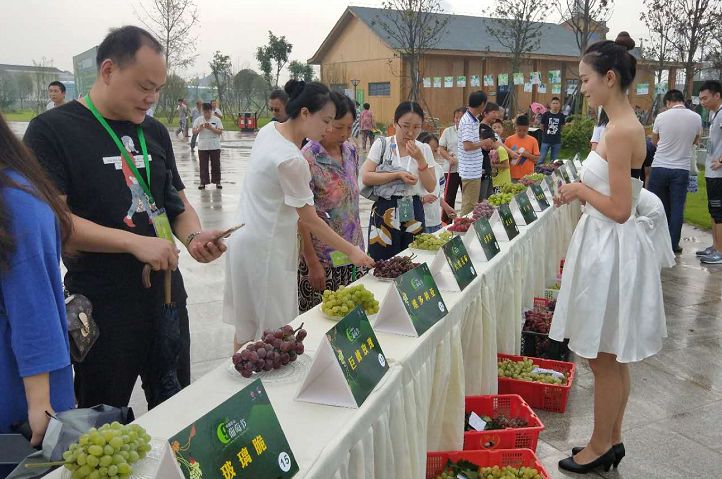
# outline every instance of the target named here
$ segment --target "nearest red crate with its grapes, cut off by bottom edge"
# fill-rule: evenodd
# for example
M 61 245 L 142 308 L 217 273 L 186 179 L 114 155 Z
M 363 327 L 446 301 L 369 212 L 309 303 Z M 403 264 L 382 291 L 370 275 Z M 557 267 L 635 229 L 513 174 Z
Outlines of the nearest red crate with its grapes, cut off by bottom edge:
M 549 479 L 541 461 L 529 449 L 430 452 L 426 479 Z

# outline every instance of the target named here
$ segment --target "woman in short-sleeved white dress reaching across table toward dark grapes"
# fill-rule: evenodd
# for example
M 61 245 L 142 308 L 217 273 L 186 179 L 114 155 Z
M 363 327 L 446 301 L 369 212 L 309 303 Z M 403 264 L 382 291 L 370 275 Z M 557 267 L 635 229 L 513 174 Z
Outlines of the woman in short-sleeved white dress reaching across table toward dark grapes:
M 241 190 L 236 221 L 245 226 L 231 237 L 226 256 L 223 321 L 236 328 L 234 351 L 264 329 L 279 328 L 298 315 L 298 222 L 357 266 L 373 266 L 361 249 L 336 234 L 314 208 L 304 139 L 320 141 L 330 131 L 336 108 L 320 83 L 290 80 L 284 123 L 258 132 Z

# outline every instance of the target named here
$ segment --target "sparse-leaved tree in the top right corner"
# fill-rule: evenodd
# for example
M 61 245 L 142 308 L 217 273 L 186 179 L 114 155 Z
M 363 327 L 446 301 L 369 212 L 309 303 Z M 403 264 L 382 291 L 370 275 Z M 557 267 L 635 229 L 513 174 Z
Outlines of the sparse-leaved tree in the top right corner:
M 663 10 L 672 24 L 670 43 L 684 65 L 684 91 L 692 96 L 694 76 L 705 59 L 703 49 L 713 44 L 722 17 L 721 0 L 671 0 Z

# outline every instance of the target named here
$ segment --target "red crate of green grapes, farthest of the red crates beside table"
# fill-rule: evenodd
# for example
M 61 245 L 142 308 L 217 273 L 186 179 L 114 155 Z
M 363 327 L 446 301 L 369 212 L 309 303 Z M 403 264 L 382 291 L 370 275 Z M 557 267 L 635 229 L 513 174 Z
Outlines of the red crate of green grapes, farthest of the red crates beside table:
M 518 394 L 534 409 L 566 411 L 576 371 L 574 363 L 500 353 L 497 366 L 499 394 Z

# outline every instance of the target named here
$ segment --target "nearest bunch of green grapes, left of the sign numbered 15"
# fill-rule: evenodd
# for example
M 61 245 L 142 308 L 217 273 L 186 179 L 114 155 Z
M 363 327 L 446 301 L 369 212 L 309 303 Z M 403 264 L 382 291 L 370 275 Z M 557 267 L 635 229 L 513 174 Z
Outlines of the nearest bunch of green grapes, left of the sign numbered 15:
M 127 479 L 131 464 L 150 451 L 150 436 L 137 424 L 119 422 L 91 428 L 63 453 L 72 479 Z

